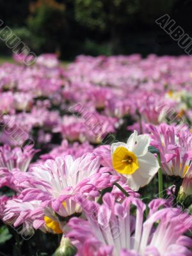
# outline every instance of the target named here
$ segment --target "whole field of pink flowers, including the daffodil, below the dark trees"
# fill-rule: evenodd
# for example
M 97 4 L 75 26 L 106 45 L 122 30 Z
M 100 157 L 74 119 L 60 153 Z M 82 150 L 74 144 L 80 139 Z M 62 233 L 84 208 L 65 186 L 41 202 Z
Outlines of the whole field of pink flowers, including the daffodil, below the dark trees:
M 0 66 L 0 255 L 192 255 L 192 62 Z

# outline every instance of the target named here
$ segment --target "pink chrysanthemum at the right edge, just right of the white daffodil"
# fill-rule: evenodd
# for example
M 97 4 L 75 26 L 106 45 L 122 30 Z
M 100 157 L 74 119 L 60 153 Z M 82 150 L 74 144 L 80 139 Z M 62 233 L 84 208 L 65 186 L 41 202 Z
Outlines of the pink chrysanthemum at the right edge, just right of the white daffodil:
M 148 125 L 151 132 L 151 145 L 161 156 L 163 171 L 167 175 L 184 178 L 192 171 L 192 134 L 174 125 Z M 182 130 L 180 131 L 180 128 Z

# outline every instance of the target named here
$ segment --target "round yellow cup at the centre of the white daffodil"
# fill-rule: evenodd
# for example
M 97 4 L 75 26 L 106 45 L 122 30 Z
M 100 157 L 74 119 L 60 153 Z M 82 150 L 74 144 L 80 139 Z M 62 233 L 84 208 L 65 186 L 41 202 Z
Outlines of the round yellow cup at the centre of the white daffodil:
M 125 147 L 117 147 L 112 156 L 113 168 L 121 174 L 132 174 L 140 167 L 138 159 Z

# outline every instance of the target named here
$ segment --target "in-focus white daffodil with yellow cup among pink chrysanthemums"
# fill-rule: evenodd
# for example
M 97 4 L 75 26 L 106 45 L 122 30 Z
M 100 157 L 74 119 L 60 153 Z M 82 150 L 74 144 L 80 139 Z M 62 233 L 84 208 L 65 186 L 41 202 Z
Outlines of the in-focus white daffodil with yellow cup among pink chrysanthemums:
M 149 136 L 138 136 L 134 131 L 127 143 L 111 145 L 113 168 L 127 178 L 127 184 L 134 191 L 147 185 L 159 169 L 156 157 L 148 152 L 149 144 Z

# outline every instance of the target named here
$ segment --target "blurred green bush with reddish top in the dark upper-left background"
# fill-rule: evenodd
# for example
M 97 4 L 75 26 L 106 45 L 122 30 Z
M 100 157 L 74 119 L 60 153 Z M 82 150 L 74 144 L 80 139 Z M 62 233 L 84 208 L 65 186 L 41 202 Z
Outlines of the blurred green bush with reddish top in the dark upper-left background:
M 54 0 L 38 0 L 29 6 L 28 28 L 34 35 L 32 45 L 46 52 L 60 52 L 67 20 L 65 4 Z M 38 42 L 37 42 L 38 41 Z M 34 48 L 33 47 L 33 48 Z

